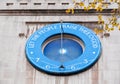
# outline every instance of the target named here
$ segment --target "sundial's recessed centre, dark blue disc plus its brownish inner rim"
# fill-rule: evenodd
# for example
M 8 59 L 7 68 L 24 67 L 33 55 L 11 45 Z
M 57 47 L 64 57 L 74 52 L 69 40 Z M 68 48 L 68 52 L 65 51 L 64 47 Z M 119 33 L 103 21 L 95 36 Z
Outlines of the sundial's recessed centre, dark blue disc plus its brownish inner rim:
M 62 39 L 61 34 L 48 38 L 43 53 L 53 61 L 65 63 L 77 59 L 83 53 L 83 47 L 79 38 L 63 33 Z

